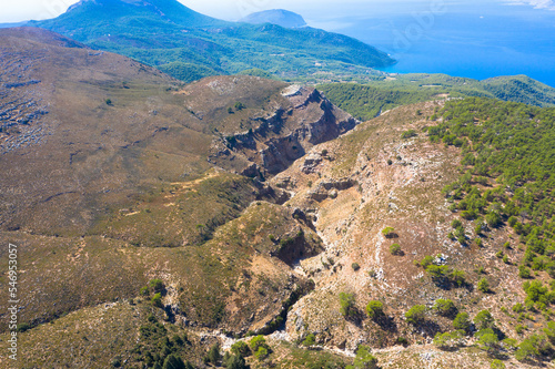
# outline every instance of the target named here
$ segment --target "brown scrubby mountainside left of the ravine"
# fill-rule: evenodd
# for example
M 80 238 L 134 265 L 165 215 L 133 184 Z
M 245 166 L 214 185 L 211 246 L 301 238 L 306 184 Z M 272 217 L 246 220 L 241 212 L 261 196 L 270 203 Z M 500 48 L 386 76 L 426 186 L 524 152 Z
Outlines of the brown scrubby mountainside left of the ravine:
M 152 267 L 181 280 L 164 289 L 174 315 L 238 335 L 274 329 L 310 290 L 292 264 L 321 240 L 263 181 L 359 123 L 317 91 L 248 75 L 184 85 L 38 28 L 0 30 L 0 239 L 26 260 L 21 324 L 134 298 Z

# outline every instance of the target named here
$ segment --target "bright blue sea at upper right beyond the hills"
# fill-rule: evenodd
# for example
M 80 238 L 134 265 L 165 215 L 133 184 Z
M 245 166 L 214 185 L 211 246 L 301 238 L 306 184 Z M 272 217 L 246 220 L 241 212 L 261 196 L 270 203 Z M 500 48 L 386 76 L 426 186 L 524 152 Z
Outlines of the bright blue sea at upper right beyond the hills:
M 527 2 L 543 2 L 544 9 Z M 347 2 L 306 18 L 310 25 L 390 53 L 398 63 L 389 72 L 477 80 L 526 74 L 555 86 L 553 1 L 377 1 L 364 7 Z

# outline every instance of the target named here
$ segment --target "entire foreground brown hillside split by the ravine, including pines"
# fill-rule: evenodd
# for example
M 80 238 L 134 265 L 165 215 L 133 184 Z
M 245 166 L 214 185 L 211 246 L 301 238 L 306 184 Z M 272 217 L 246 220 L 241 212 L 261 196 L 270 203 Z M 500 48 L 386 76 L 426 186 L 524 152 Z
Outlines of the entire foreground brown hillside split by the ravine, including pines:
M 38 28 L 0 30 L 0 62 L 11 367 L 553 366 L 554 107 L 428 95 L 359 122 Z

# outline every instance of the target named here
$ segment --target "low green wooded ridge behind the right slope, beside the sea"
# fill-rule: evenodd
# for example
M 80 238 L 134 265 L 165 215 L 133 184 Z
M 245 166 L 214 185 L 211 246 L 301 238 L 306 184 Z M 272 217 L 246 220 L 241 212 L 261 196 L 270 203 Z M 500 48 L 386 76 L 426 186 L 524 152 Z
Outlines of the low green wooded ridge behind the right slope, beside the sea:
M 396 106 L 441 98 L 482 96 L 555 106 L 555 89 L 526 75 L 484 81 L 444 74 L 395 74 L 364 83 L 326 83 L 317 89 L 360 120 L 370 120 Z

